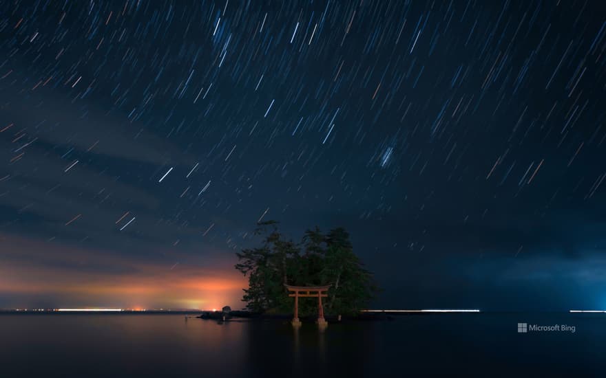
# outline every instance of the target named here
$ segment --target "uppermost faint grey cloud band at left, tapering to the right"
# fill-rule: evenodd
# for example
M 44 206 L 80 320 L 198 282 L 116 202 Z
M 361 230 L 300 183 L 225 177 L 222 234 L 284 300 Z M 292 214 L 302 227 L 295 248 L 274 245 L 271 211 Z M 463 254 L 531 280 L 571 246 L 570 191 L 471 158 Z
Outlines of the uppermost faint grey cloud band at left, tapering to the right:
M 20 76 L 17 71 L 12 75 Z M 32 145 L 73 147 L 79 152 L 134 162 L 189 164 L 193 160 L 167 139 L 146 131 L 144 125 L 130 122 L 124 114 L 103 112 L 94 106 L 79 107 L 49 87 L 17 94 L 7 88 L 0 91 L 0 100 L 10 104 L 2 107 L 0 114 L 7 124 L 13 124 L 6 133 L 27 135 L 12 151 L 37 138 Z

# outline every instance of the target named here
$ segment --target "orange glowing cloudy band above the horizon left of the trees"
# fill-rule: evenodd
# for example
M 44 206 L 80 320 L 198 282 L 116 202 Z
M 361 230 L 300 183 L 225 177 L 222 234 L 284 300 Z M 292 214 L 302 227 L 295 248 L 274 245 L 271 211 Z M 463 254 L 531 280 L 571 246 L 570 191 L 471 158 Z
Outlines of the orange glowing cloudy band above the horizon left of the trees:
M 247 278 L 232 268 L 236 257 L 231 255 L 226 255 L 224 261 L 213 260 L 213 267 L 182 264 L 170 269 L 170 263 L 142 262 L 129 256 L 12 236 L 0 243 L 0 252 L 0 293 L 19 298 L 52 298 L 56 308 L 240 308 L 242 289 L 248 286 Z M 11 258 L 17 254 L 19 258 Z M 48 264 L 49 256 L 52 264 Z M 104 271 L 97 266 L 109 269 Z M 8 307 L 33 304 L 34 300 L 24 299 L 23 303 Z

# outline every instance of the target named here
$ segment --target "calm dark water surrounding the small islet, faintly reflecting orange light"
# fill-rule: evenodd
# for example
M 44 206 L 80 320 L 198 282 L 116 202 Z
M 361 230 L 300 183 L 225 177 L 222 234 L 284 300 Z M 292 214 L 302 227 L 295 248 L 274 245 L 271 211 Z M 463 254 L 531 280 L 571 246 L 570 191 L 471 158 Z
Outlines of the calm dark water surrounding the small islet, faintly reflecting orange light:
M 518 333 L 517 323 L 576 327 Z M 217 324 L 163 314 L 0 315 L 0 377 L 606 375 L 606 314 L 437 314 Z

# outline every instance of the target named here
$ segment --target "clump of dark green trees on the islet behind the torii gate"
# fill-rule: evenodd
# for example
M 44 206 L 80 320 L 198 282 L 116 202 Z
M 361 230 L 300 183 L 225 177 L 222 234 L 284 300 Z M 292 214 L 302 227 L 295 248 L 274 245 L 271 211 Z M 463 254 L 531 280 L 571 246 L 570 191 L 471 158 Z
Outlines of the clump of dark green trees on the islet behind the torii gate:
M 338 227 L 325 235 L 315 227 L 306 230 L 301 243 L 294 243 L 278 232 L 277 225 L 275 221 L 259 223 L 255 234 L 264 235 L 262 245 L 236 254 L 236 269 L 249 277 L 242 298 L 248 309 L 291 311 L 292 300 L 284 285 L 331 285 L 327 313 L 354 314 L 368 305 L 378 288 L 354 254 L 346 230 Z M 315 311 L 315 302 L 300 302 L 302 315 Z

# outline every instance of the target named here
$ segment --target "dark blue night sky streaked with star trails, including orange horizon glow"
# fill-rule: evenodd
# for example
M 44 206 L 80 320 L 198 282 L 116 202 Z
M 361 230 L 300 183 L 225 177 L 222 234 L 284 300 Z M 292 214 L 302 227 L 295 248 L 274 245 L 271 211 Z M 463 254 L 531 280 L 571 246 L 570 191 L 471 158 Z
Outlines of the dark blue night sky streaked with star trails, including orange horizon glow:
M 270 219 L 374 308 L 606 307 L 601 1 L 0 9 L 0 308 L 240 308 Z

